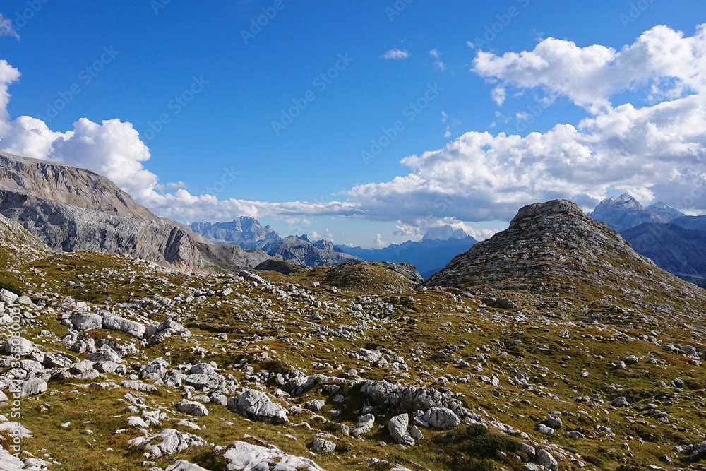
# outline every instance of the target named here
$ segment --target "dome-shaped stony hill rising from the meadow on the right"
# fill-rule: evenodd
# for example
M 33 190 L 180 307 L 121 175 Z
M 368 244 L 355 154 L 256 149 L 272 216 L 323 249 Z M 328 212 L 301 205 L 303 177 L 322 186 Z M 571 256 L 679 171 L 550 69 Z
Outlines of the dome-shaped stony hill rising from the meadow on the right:
M 702 297 L 698 287 L 661 270 L 566 200 L 521 208 L 508 229 L 456 256 L 426 285 L 590 296 L 598 291 L 629 303 L 677 292 L 674 302 Z

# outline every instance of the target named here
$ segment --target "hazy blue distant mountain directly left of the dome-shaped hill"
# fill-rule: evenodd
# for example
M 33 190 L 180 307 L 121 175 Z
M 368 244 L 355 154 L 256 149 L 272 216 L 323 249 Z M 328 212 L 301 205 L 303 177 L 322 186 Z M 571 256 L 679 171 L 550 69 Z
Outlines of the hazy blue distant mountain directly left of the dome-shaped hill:
M 410 240 L 402 244 L 391 244 L 384 249 L 347 246 L 339 246 L 339 248 L 346 254 L 358 256 L 365 261 L 412 263 L 426 279 L 444 268 L 452 258 L 470 249 L 476 242 L 478 241 L 462 229 L 454 230 L 446 225 L 429 229 L 419 242 Z

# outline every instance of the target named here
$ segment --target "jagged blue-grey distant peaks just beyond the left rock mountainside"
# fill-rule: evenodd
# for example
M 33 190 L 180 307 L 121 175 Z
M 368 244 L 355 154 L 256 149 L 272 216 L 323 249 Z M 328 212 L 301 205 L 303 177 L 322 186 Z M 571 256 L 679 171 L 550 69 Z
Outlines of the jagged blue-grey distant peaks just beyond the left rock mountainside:
M 231 222 L 192 222 L 191 230 L 215 244 L 235 244 L 243 249 L 270 251 L 282 240 L 270 226 L 263 227 L 253 217 L 241 216 Z

